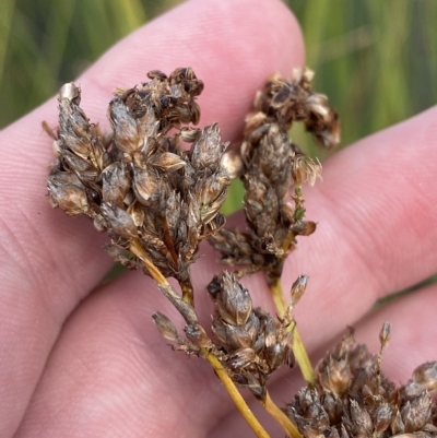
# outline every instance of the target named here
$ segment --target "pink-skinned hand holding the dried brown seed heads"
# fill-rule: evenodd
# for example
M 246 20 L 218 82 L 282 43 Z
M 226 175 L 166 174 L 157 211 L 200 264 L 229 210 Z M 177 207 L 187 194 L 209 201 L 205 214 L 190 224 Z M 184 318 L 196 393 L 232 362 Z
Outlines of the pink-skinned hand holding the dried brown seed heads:
M 120 42 L 76 83 L 86 115 L 107 128 L 116 86 L 140 83 L 152 69 L 191 66 L 205 82 L 201 125 L 217 120 L 224 140 L 238 140 L 267 76 L 288 76 L 303 63 L 298 25 L 280 1 L 192 0 Z M 162 339 L 151 315 L 177 317 L 154 283 L 129 272 L 98 286 L 111 264 L 102 249 L 107 237 L 86 218 L 50 209 L 52 152 L 40 122 L 56 126 L 56 106 L 52 98 L 0 133 L 0 436 L 252 436 L 206 362 Z M 377 351 L 385 320 L 392 341 L 383 369 L 393 381 L 436 359 L 436 285 L 368 313 L 377 298 L 436 271 L 436 120 L 433 108 L 361 141 L 306 189 L 307 217 L 319 225 L 287 259 L 283 286 L 310 277 L 296 319 L 315 360 L 346 325 Z M 200 253 L 192 276 L 208 323 L 212 307 L 201 295 L 221 267 L 208 246 Z M 272 309 L 260 277 L 245 284 Z M 287 371 L 270 388 L 281 405 L 300 384 Z

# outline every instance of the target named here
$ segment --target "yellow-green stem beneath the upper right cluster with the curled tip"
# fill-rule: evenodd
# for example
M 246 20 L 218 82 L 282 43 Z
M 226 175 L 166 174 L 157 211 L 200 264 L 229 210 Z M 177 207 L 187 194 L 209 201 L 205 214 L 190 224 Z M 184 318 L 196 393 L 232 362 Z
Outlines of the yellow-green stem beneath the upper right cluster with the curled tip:
M 270 292 L 272 294 L 274 305 L 276 306 L 277 313 L 280 317 L 282 317 L 286 311 L 286 303 L 282 293 L 281 281 L 279 277 L 273 279 L 273 282 L 270 285 Z M 299 332 L 297 331 L 296 327 L 294 328 L 293 334 L 293 352 L 296 356 L 297 365 L 300 368 L 300 372 L 304 376 L 305 381 L 308 384 L 314 384 L 315 372 L 312 369 L 312 365 L 309 360 L 307 351 L 305 350 L 304 343 L 302 342 Z

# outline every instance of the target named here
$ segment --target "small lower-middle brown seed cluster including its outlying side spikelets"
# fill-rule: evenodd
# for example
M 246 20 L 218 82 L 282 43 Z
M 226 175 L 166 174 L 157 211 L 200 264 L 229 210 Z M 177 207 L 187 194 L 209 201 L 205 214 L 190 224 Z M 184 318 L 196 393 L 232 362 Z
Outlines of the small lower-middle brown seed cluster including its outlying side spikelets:
M 293 289 L 302 295 L 306 282 L 303 275 Z M 202 348 L 206 348 L 220 359 L 236 386 L 248 388 L 263 399 L 271 374 L 284 364 L 294 366 L 293 305 L 282 319 L 253 308 L 249 291 L 227 271 L 214 276 L 208 292 L 215 303 L 212 339 L 196 317 L 186 318 L 186 338 L 181 338 L 172 320 L 156 312 L 153 319 L 161 334 L 174 342 L 174 350 L 189 355 L 200 356 Z

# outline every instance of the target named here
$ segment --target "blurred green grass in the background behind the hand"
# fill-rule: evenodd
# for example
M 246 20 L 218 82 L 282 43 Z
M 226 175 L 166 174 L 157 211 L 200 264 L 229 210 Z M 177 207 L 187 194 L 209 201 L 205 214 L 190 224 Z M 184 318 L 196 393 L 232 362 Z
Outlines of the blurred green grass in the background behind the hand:
M 1 0 L 0 128 L 179 0 Z M 253 0 L 256 3 L 256 0 Z M 343 145 L 437 102 L 436 0 L 287 0 Z M 295 129 L 295 128 L 294 128 Z M 314 153 L 299 128 L 294 140 Z M 297 138 L 297 139 L 296 139 Z M 323 151 L 317 150 L 322 161 Z M 226 211 L 240 205 L 238 190 Z

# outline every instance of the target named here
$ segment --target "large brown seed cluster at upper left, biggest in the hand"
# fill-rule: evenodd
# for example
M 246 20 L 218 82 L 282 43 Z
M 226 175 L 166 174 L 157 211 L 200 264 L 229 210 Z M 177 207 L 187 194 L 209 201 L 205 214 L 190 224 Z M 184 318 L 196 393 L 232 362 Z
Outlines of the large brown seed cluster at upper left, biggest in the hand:
M 116 260 L 141 269 L 140 253 L 164 276 L 189 284 L 200 240 L 224 224 L 218 210 L 229 185 L 221 164 L 226 144 L 216 125 L 188 126 L 199 121 L 196 97 L 203 90 L 191 69 L 147 76 L 142 86 L 115 93 L 107 135 L 79 106 L 81 90 L 73 83 L 61 88 L 48 193 L 54 206 L 86 214 L 107 230 L 107 251 Z M 181 142 L 191 143 L 190 151 Z

